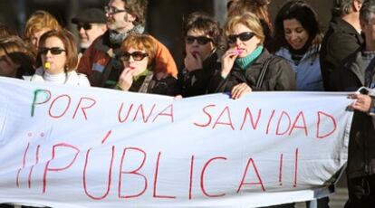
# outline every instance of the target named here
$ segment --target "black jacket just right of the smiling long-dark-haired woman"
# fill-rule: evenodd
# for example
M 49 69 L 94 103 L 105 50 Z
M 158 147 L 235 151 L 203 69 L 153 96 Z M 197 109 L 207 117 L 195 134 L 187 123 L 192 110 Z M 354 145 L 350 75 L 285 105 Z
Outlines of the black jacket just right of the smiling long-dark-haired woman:
M 332 91 L 330 79 L 332 71 L 346 61 L 363 44 L 361 34 L 341 17 L 332 18 L 330 27 L 322 40 L 320 54 L 324 89 Z

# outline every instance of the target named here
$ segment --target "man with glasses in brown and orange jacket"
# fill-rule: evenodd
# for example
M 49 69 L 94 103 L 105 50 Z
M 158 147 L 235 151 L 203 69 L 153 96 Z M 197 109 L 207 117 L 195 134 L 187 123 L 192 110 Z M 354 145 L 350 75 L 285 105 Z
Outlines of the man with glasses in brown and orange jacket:
M 108 31 L 83 53 L 78 71 L 88 75 L 91 86 L 116 88 L 123 70 L 120 45 L 130 33 L 145 33 L 147 0 L 110 0 L 105 6 Z M 168 48 L 152 37 L 156 45 L 155 67 L 158 80 L 177 77 L 177 66 Z

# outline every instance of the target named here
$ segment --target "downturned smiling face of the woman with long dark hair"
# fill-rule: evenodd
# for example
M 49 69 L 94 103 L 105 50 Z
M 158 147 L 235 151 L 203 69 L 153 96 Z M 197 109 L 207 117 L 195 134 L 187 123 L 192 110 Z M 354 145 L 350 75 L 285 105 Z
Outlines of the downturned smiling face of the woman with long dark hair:
M 285 40 L 294 50 L 302 49 L 309 40 L 309 33 L 303 28 L 300 21 L 286 19 L 283 21 Z

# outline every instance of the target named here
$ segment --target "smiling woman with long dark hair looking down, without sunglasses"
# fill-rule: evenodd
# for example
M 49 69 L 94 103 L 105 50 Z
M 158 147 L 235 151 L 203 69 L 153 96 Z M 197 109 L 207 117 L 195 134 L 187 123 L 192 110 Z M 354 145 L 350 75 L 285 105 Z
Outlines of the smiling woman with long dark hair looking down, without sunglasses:
M 274 25 L 275 54 L 292 66 L 297 90 L 324 90 L 319 61 L 322 32 L 312 7 L 303 0 L 289 1 L 276 15 Z

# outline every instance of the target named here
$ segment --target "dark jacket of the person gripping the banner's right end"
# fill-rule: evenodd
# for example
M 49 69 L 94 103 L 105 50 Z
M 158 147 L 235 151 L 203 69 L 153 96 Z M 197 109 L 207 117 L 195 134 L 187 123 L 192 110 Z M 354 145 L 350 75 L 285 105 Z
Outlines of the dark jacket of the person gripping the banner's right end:
M 341 67 L 332 71 L 332 90 L 354 91 L 365 86 L 367 67 L 363 63 L 361 50 L 357 50 Z M 354 111 L 346 169 L 349 178 L 375 175 L 375 128 L 372 119 L 368 113 Z

